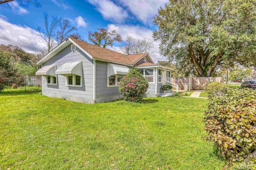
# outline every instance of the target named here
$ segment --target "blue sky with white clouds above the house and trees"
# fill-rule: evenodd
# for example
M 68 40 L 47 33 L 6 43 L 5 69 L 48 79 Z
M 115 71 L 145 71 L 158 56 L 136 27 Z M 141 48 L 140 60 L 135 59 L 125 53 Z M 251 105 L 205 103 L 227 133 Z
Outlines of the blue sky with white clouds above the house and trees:
M 45 46 L 38 35 L 38 26 L 44 26 L 44 13 L 70 21 L 88 41 L 88 31 L 97 28 L 116 30 L 122 38 L 131 35 L 136 39 L 152 39 L 152 18 L 167 0 L 38 0 L 41 7 L 20 6 L 16 1 L 12 9 L 0 10 L 0 43 L 18 45 L 28 52 L 38 52 Z M 88 41 L 88 43 L 90 43 Z M 159 42 L 154 42 L 152 58 L 164 60 L 158 52 Z M 112 50 L 118 51 L 119 43 Z

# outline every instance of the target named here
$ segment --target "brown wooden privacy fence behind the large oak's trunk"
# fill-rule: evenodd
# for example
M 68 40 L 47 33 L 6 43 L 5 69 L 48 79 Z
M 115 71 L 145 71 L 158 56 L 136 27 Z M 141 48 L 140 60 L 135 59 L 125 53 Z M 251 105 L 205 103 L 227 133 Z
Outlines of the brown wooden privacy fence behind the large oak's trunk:
M 191 79 L 189 81 L 189 79 Z M 178 88 L 184 90 L 184 84 L 192 83 L 192 90 L 205 90 L 208 82 L 224 83 L 223 77 L 185 77 L 185 78 L 171 78 L 171 82 L 178 84 Z

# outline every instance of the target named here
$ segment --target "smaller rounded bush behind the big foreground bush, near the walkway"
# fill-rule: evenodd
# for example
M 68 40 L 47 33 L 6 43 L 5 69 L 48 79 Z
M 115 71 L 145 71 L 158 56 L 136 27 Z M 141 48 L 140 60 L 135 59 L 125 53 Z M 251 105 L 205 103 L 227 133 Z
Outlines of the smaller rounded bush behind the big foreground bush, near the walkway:
M 209 98 L 212 98 L 215 95 L 226 94 L 228 92 L 228 86 L 219 82 L 208 82 L 205 91 L 209 95 Z

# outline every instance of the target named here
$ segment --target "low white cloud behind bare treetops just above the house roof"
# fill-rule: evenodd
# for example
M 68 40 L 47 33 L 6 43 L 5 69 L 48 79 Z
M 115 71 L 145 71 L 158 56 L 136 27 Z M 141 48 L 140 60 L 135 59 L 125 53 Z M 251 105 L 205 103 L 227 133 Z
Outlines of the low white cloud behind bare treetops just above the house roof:
M 122 39 L 125 40 L 128 35 L 132 36 L 135 39 L 142 39 L 147 38 L 152 41 L 153 39 L 153 31 L 150 29 L 147 29 L 145 27 L 140 27 L 138 25 L 115 25 L 115 24 L 109 24 L 108 25 L 108 31 L 116 30 L 117 33 L 119 33 L 122 36 Z M 166 60 L 164 57 L 162 57 L 159 53 L 158 47 L 160 42 L 154 41 L 154 48 L 152 49 L 153 54 L 151 55 L 151 58 L 154 60 L 155 63 L 157 63 L 158 60 Z M 120 52 L 118 47 L 112 47 L 111 48 L 114 51 Z

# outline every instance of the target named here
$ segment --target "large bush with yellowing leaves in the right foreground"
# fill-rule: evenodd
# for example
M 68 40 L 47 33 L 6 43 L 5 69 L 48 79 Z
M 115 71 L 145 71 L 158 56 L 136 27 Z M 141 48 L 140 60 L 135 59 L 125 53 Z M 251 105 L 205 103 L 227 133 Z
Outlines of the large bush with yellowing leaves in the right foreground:
M 227 92 L 209 98 L 204 115 L 206 139 L 228 160 L 250 162 L 256 154 L 256 90 L 219 88 Z

